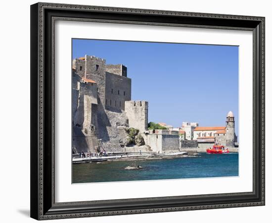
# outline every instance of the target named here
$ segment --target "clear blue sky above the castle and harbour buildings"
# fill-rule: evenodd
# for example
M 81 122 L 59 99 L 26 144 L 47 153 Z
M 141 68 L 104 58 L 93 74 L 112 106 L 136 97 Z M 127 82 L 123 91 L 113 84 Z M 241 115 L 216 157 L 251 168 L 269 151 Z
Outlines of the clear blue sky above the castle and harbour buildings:
M 238 135 L 238 47 L 73 39 L 73 58 L 97 56 L 124 64 L 132 100 L 149 103 L 148 121 L 225 126 Z

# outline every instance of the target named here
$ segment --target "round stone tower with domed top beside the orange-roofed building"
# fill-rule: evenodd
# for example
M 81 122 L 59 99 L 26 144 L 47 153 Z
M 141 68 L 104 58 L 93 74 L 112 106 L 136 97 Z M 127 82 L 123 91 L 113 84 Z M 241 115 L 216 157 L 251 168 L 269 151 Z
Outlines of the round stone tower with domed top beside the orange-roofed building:
M 232 111 L 228 111 L 226 120 L 226 146 L 234 147 L 235 130 L 234 130 L 234 115 Z

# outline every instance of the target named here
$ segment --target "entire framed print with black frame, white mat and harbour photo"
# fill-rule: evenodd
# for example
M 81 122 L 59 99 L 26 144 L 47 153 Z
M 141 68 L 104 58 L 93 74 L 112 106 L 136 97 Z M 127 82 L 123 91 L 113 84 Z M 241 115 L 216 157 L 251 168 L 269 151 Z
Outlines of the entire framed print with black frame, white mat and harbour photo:
M 31 5 L 31 217 L 265 205 L 265 18 Z

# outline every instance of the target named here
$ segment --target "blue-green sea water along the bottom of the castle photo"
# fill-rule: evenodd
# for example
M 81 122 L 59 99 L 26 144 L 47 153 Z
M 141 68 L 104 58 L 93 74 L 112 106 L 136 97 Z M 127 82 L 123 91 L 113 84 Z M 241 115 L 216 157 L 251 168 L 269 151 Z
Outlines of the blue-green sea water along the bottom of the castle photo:
M 125 169 L 128 166 L 141 169 Z M 74 164 L 73 183 L 238 176 L 238 153 Z

